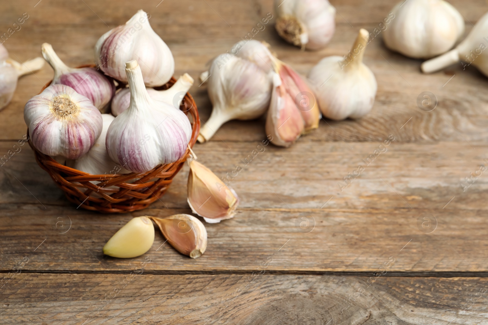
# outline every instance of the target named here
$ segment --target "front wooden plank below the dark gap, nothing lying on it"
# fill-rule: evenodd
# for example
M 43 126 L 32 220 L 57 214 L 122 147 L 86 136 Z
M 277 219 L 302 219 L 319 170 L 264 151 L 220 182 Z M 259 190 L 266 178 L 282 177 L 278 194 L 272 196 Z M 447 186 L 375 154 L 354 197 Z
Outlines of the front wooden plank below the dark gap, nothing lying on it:
M 488 323 L 487 278 L 137 273 L 21 273 L 2 288 L 0 317 L 80 325 Z

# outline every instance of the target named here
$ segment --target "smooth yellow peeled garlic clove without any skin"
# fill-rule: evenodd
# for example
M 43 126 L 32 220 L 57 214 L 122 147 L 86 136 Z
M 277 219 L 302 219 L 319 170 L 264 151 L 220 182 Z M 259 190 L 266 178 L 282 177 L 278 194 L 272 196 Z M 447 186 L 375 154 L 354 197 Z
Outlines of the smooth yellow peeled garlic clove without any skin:
M 118 257 L 132 258 L 144 254 L 154 243 L 154 226 L 146 217 L 137 217 L 130 220 L 103 246 L 103 254 Z

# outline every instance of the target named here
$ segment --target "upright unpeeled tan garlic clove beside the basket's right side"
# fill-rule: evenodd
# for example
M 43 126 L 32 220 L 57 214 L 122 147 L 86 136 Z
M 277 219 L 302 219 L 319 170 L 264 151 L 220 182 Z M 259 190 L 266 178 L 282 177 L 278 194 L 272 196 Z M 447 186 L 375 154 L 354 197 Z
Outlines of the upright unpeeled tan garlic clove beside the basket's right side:
M 232 218 L 239 205 L 236 192 L 195 159 L 190 157 L 187 161 L 187 201 L 193 213 L 211 224 Z

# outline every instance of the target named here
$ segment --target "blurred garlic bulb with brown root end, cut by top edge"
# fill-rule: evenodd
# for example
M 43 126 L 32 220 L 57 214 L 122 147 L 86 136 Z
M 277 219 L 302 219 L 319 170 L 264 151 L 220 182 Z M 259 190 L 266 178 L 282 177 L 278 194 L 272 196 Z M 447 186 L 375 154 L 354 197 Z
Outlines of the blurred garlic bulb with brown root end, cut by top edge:
M 287 42 L 320 50 L 335 30 L 335 9 L 327 0 L 275 0 L 276 30 Z

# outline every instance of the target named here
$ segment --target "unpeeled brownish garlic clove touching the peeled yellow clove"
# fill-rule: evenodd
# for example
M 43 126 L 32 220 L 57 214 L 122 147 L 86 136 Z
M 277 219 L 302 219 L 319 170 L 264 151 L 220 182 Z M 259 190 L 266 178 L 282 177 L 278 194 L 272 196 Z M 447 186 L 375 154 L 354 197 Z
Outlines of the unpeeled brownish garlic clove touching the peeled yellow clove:
M 180 253 L 197 258 L 207 248 L 207 230 L 203 223 L 189 214 L 175 214 L 165 218 L 151 217 L 168 243 Z

